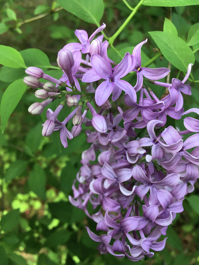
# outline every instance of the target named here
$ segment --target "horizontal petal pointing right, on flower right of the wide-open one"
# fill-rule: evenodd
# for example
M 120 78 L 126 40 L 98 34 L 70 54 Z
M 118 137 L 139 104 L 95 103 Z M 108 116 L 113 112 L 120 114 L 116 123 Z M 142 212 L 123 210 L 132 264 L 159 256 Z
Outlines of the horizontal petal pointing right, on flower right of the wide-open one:
M 159 80 L 165 77 L 168 73 L 170 72 L 170 69 L 161 67 L 161 68 L 147 68 L 147 67 L 142 67 L 142 74 L 152 80 Z

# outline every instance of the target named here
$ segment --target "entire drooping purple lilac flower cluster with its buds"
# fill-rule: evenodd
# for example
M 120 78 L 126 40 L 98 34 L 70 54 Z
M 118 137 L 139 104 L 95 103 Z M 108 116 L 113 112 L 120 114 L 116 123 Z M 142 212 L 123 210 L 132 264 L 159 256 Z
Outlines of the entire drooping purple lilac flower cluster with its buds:
M 166 238 L 158 240 L 166 235 L 176 213 L 183 211 L 184 196 L 194 190 L 199 177 L 199 120 L 186 117 L 187 130 L 177 131 L 172 126 L 165 127 L 167 116 L 180 119 L 190 112 L 199 114 L 199 109 L 185 112 L 183 109 L 181 93 L 191 95 L 191 87 L 185 82 L 192 64 L 188 65 L 182 82 L 175 78 L 171 84 L 157 81 L 170 70 L 141 66 L 141 47 L 145 40 L 116 65 L 107 56 L 108 42 L 103 42 L 103 35 L 94 39 L 105 27 L 103 24 L 89 38 L 84 30 L 75 31 L 80 43 L 67 44 L 58 53 L 57 64 L 63 70 L 60 80 L 42 69 L 28 67 L 29 77 L 24 82 L 41 88 L 35 96 L 44 101 L 29 107 L 33 115 L 41 114 L 56 97 L 65 97 L 54 112 L 47 110 L 42 135 L 48 137 L 60 130 L 60 140 L 67 147 L 67 138 L 78 136 L 83 122 L 92 126 L 92 130 L 86 130 L 87 141 L 92 144 L 82 153 L 82 167 L 72 186 L 74 196 L 69 196 L 69 200 L 96 222 L 99 235 L 86 229 L 100 243 L 101 253 L 138 261 L 144 256 L 152 257 L 151 250 L 164 249 Z M 137 75 L 134 87 L 121 79 L 130 72 Z M 40 78 L 50 82 L 41 83 Z M 167 95 L 158 99 L 151 89 L 144 87 L 144 78 L 166 87 Z M 101 79 L 104 81 L 99 82 Z M 85 83 L 88 85 L 82 92 Z M 109 97 L 112 94 L 114 102 L 122 91 L 125 92 L 122 108 L 128 109 L 123 111 L 117 103 L 118 113 L 114 114 Z M 139 103 L 136 102 L 138 91 Z M 98 112 L 91 104 L 93 97 L 100 106 Z M 57 116 L 65 104 L 75 108 L 60 122 Z M 86 117 L 88 111 L 91 120 Z M 74 126 L 70 132 L 66 124 L 71 119 Z M 192 135 L 183 140 L 183 135 L 188 133 Z M 194 149 L 188 152 L 191 148 Z M 93 211 L 89 212 L 91 205 Z

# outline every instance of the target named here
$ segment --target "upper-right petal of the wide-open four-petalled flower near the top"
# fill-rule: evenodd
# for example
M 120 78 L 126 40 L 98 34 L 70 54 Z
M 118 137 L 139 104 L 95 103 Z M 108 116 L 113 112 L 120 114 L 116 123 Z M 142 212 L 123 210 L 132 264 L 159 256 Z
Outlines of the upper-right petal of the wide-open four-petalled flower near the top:
M 118 80 L 119 78 L 126 76 L 126 74 L 130 72 L 131 64 L 132 64 L 131 55 L 129 52 L 126 52 L 124 58 L 116 66 L 116 70 L 113 73 L 114 79 Z

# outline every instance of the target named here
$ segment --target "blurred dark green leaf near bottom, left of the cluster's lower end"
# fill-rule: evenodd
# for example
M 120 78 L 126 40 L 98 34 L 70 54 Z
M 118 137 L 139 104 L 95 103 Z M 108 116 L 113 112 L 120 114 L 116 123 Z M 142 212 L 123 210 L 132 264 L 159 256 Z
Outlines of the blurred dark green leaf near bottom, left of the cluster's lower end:
M 46 239 L 45 245 L 57 247 L 57 245 L 65 244 L 70 238 L 71 232 L 66 229 L 55 231 Z

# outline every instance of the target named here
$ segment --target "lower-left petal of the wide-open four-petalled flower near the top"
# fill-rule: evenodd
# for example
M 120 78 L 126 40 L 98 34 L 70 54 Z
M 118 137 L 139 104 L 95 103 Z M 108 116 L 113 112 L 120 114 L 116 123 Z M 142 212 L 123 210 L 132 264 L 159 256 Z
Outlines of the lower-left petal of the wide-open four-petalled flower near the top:
M 96 54 L 97 55 L 97 54 Z M 106 80 L 102 82 L 96 89 L 95 101 L 98 106 L 103 105 L 113 91 L 114 83 Z

